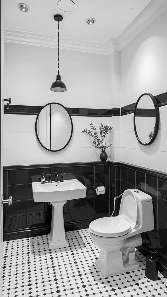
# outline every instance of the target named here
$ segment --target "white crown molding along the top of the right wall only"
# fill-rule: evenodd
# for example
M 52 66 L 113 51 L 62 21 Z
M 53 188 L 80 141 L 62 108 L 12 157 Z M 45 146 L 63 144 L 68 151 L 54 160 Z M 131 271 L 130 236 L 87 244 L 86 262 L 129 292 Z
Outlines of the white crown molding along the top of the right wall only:
M 141 31 L 152 23 L 162 12 L 167 9 L 166 0 L 152 0 L 142 10 L 129 26 L 119 35 L 117 42 L 120 50 L 132 41 Z

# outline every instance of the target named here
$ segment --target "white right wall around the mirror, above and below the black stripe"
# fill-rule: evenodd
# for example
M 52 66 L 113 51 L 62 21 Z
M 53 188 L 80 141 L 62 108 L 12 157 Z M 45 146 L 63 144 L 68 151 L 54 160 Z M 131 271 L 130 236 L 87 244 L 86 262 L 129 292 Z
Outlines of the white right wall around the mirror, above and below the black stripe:
M 121 106 L 136 102 L 143 93 L 167 91 L 167 11 L 121 51 Z M 121 116 L 123 162 L 167 172 L 167 106 L 160 110 L 160 127 L 149 146 L 138 143 L 133 114 Z

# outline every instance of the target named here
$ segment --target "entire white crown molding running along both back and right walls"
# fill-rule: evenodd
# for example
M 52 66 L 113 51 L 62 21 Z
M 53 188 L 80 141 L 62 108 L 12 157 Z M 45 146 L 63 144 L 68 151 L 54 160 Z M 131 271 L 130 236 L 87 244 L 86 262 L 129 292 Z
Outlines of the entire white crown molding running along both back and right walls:
M 110 38 L 105 44 L 70 38 L 60 38 L 60 48 L 86 53 L 110 55 L 114 50 L 122 50 L 122 48 L 124 48 L 166 9 L 167 0 L 152 0 L 130 23 L 130 25 L 127 26 L 118 38 Z M 5 28 L 4 41 L 57 48 L 57 39 L 53 35 L 45 35 L 9 28 Z

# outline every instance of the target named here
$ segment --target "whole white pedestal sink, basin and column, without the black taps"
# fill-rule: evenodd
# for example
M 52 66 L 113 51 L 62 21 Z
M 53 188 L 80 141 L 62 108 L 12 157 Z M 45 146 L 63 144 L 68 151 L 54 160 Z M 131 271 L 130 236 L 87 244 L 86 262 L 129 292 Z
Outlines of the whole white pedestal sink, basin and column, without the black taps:
M 48 234 L 49 249 L 68 247 L 64 231 L 63 206 L 67 200 L 84 198 L 86 187 L 77 179 L 46 184 L 33 182 L 32 192 L 35 202 L 51 202 L 52 204 L 51 233 Z

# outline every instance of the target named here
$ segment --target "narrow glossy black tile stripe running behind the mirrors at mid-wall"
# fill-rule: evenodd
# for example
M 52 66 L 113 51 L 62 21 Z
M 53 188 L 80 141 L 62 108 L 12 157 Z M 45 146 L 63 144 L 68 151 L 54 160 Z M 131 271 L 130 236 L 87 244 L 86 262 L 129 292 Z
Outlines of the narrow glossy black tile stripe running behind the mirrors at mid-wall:
M 158 106 L 167 105 L 167 92 L 155 96 L 158 102 Z M 129 105 L 125 105 L 121 108 L 113 107 L 110 109 L 99 108 L 71 108 L 67 107 L 71 116 L 95 116 L 95 117 L 111 117 L 111 116 L 125 116 L 130 113 L 134 113 L 136 102 Z M 25 114 L 25 115 L 37 115 L 43 106 L 32 105 L 10 105 L 10 108 L 4 108 L 4 114 Z M 145 115 L 148 116 L 148 115 Z M 151 116 L 151 115 L 149 115 Z

